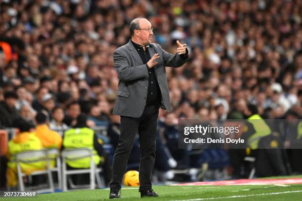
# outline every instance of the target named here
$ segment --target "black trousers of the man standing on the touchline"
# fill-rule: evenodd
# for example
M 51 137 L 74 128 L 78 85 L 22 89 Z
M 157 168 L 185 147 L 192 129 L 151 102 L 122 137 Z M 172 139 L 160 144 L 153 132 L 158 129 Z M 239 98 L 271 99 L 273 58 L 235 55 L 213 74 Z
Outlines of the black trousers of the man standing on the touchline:
M 135 135 L 140 138 L 140 188 L 151 188 L 151 173 L 155 161 L 155 141 L 157 136 L 157 105 L 146 105 L 141 117 L 120 117 L 120 136 L 114 152 L 110 188 L 120 188 L 127 161 L 132 150 Z

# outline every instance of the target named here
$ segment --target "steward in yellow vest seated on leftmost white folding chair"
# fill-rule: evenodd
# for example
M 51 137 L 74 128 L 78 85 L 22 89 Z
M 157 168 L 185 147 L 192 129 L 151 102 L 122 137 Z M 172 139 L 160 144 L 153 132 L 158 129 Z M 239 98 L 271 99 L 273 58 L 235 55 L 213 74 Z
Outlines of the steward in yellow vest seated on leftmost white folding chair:
M 35 133 L 31 133 L 31 125 L 24 119 L 18 119 L 15 121 L 17 128 L 20 133 L 17 134 L 12 140 L 8 142 L 8 151 L 6 153 L 6 157 L 8 159 L 7 163 L 7 185 L 10 187 L 14 187 L 17 185 L 17 166 L 15 163 L 15 155 L 17 153 L 27 151 L 27 150 L 41 150 L 43 149 L 41 141 L 35 135 Z M 31 164 L 22 164 L 21 169 L 22 172 L 26 174 L 30 174 L 36 170 L 45 169 L 45 162 L 36 162 Z

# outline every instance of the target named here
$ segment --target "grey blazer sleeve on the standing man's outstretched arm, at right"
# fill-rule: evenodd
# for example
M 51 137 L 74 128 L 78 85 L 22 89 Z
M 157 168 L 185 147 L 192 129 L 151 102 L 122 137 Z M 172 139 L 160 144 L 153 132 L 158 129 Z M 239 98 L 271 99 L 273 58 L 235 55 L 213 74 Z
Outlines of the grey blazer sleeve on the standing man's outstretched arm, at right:
M 186 49 L 186 58 L 181 57 L 179 54 L 171 54 L 166 52 L 160 45 L 156 45 L 158 50 L 162 52 L 162 59 L 166 67 L 181 67 L 189 60 L 188 50 Z

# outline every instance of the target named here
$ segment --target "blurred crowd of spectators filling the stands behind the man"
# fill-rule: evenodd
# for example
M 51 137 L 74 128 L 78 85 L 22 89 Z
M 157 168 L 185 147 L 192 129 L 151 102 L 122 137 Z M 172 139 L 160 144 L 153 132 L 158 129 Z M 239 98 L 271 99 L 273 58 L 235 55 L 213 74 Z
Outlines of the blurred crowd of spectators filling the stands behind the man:
M 179 118 L 246 119 L 249 104 L 264 119 L 301 118 L 301 0 L 1 0 L 0 126 L 22 117 L 35 128 L 43 111 L 51 129 L 85 113 L 89 127 L 115 131 L 113 51 L 135 17 L 166 51 L 176 40 L 189 49 L 187 64 L 166 68 L 173 112 L 159 113 L 175 156 Z

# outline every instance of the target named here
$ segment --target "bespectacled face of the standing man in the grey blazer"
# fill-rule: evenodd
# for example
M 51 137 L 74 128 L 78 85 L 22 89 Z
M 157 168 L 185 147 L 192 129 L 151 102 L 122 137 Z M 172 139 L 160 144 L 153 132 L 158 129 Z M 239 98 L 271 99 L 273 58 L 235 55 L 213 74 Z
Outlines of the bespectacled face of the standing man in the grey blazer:
M 151 23 L 146 19 L 141 19 L 140 30 L 138 31 L 138 37 L 142 41 L 143 45 L 148 45 L 152 42 L 153 32 L 151 31 Z

